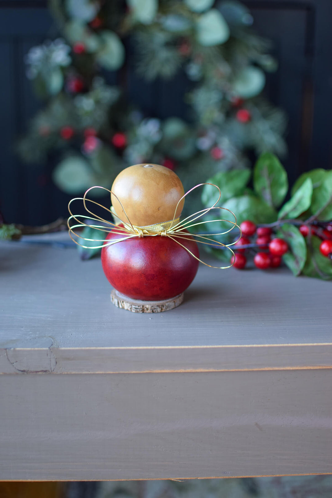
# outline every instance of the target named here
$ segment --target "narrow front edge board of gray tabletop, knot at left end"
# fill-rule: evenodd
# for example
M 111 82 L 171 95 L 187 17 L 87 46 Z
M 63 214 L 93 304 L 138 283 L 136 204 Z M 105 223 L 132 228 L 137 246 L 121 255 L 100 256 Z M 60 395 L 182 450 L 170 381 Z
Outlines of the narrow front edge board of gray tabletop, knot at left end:
M 332 344 L 0 349 L 0 373 L 172 373 L 332 368 Z

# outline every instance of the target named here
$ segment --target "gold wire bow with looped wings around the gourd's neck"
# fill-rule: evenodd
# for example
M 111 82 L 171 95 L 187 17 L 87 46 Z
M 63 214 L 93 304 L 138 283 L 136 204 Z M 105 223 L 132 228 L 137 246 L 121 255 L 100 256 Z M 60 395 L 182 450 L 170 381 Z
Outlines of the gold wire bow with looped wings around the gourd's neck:
M 211 206 L 210 208 L 205 208 L 205 209 L 202 209 L 201 211 L 197 211 L 196 213 L 188 216 L 187 218 L 185 218 L 182 221 L 180 221 L 180 218 L 175 218 L 176 213 L 177 213 L 177 209 L 178 209 L 178 206 L 179 206 L 180 202 L 188 194 L 190 194 L 193 190 L 195 190 L 198 187 L 202 187 L 204 185 L 212 185 L 213 187 L 216 187 L 219 190 L 219 197 L 218 197 L 218 200 L 215 202 L 215 204 L 213 206 Z M 105 206 L 103 206 L 99 202 L 93 201 L 91 199 L 87 199 L 87 194 L 92 189 L 94 189 L 94 188 L 100 188 L 100 189 L 106 190 L 107 192 L 109 192 L 111 195 L 113 195 L 117 199 L 117 201 L 119 202 L 119 204 L 120 204 L 120 206 L 121 206 L 121 208 L 123 210 L 124 216 L 126 217 L 128 223 L 124 223 L 117 216 L 117 214 L 115 213 L 114 210 L 106 208 Z M 187 247 L 185 247 L 183 244 L 181 244 L 181 242 L 179 242 L 179 240 L 181 240 L 181 239 L 182 240 L 187 240 L 187 241 L 188 240 L 195 240 L 196 242 L 199 242 L 201 244 L 206 244 L 208 246 L 217 246 L 217 247 L 218 246 L 222 246 L 225 249 L 228 249 L 231 252 L 231 254 L 234 256 L 234 252 L 230 248 L 230 246 L 233 246 L 234 244 L 236 244 L 236 242 L 238 242 L 240 240 L 241 235 L 242 235 L 241 234 L 241 229 L 237 225 L 236 216 L 234 215 L 234 213 L 232 211 L 230 211 L 227 208 L 222 208 L 222 207 L 217 206 L 220 198 L 221 198 L 221 190 L 220 190 L 220 188 L 217 185 L 214 185 L 213 183 L 199 183 L 195 187 L 193 187 L 190 190 L 188 190 L 188 192 L 186 192 L 181 197 L 181 199 L 179 200 L 179 202 L 178 202 L 178 204 L 177 204 L 177 206 L 175 208 L 175 212 L 174 212 L 174 216 L 173 216 L 172 220 L 166 221 L 164 223 L 156 223 L 154 225 L 149 225 L 149 226 L 146 226 L 146 227 L 137 227 L 136 225 L 132 225 L 132 223 L 130 222 L 130 220 L 129 220 L 129 218 L 128 218 L 126 212 L 125 212 L 125 209 L 122 206 L 120 200 L 118 199 L 118 197 L 111 190 L 109 190 L 109 189 L 107 189 L 105 187 L 99 187 L 99 186 L 91 187 L 91 188 L 89 188 L 86 191 L 86 193 L 84 194 L 83 197 L 75 197 L 68 204 L 68 211 L 70 213 L 70 216 L 69 216 L 68 221 L 67 221 L 67 225 L 68 225 L 68 229 L 69 229 L 69 236 L 72 239 L 72 241 L 75 242 L 75 244 L 77 244 L 78 246 L 81 246 L 81 247 L 83 247 L 85 249 L 100 249 L 100 248 L 103 248 L 103 247 L 112 246 L 113 244 L 116 244 L 117 242 L 127 241 L 129 239 L 134 238 L 134 237 L 139 237 L 139 238 L 142 238 L 142 237 L 155 237 L 155 236 L 169 237 L 172 241 L 176 242 L 176 244 L 179 244 L 179 246 L 181 246 L 183 249 L 186 249 L 186 251 L 189 252 L 189 254 L 191 254 L 195 259 L 197 259 L 199 262 L 205 264 L 206 266 L 210 266 L 211 268 L 219 268 L 219 269 L 230 268 L 234 264 L 234 261 L 231 264 L 229 264 L 228 266 L 213 266 L 211 264 L 208 264 L 208 263 L 205 263 L 204 261 L 202 261 L 202 259 L 200 259 L 197 256 L 195 256 L 195 254 L 193 254 Z M 83 201 L 83 205 L 84 205 L 85 210 L 91 216 L 73 215 L 73 213 L 71 211 L 71 204 L 74 201 Z M 95 205 L 99 206 L 100 208 L 105 209 L 106 211 L 108 211 L 108 213 L 110 213 L 113 217 L 116 217 L 119 221 L 117 223 L 112 223 L 109 220 L 106 220 L 106 219 L 102 218 L 101 216 L 96 215 L 95 213 L 93 213 L 92 211 L 90 211 L 88 209 L 87 202 L 91 202 L 92 204 L 95 204 Z M 193 222 L 195 222 L 196 220 L 202 218 L 203 216 L 205 216 L 207 213 L 209 213 L 210 211 L 212 211 L 214 209 L 220 209 L 220 210 L 223 210 L 223 211 L 228 211 L 231 215 L 233 215 L 234 221 L 224 220 L 224 219 L 218 219 L 218 220 L 207 220 L 207 221 L 200 221 L 200 222 L 197 222 L 197 223 L 193 223 Z M 93 223 L 86 223 L 85 221 L 82 221 L 82 219 L 88 220 L 88 221 L 89 220 L 93 220 L 95 222 L 96 221 L 97 222 L 102 222 L 103 225 L 101 226 L 101 225 L 98 225 L 98 224 L 96 225 L 96 224 L 93 224 Z M 75 222 L 77 222 L 77 223 L 76 224 L 72 224 L 73 220 L 75 220 Z M 187 229 L 189 229 L 189 228 L 197 227 L 199 225 L 206 225 L 207 223 L 214 223 L 214 222 L 230 223 L 231 227 L 228 230 L 225 230 L 224 232 L 221 232 L 221 233 L 218 233 L 218 234 L 204 234 L 203 235 L 203 234 L 192 234 L 192 233 L 188 233 L 187 232 Z M 119 223 L 123 223 L 123 226 L 120 227 Z M 76 229 L 82 229 L 84 227 L 94 228 L 96 230 L 100 230 L 101 232 L 107 232 L 107 233 L 112 232 L 112 234 L 118 235 L 119 238 L 112 239 L 110 241 L 108 239 L 89 239 L 89 238 L 86 238 L 86 237 L 82 237 L 75 230 Z M 211 237 L 214 237 L 214 236 L 226 235 L 229 232 L 231 232 L 231 230 L 233 230 L 235 227 L 237 227 L 239 229 L 240 235 L 239 235 L 238 239 L 236 241 L 232 242 L 231 244 L 222 244 L 219 241 L 211 239 Z M 103 243 L 103 244 L 100 244 L 100 245 L 97 245 L 97 246 L 85 246 L 83 244 L 80 244 L 80 242 L 78 242 L 77 240 L 75 240 L 74 237 L 78 238 L 78 239 L 82 239 L 82 240 L 87 241 L 87 242 L 97 242 L 97 243 L 100 242 L 100 243 Z

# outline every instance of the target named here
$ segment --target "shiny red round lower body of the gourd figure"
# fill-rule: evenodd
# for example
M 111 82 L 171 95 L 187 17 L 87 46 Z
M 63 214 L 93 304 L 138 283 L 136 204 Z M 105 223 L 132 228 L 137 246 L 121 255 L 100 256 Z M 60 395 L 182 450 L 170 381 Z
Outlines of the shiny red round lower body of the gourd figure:
M 110 232 L 107 240 L 125 236 Z M 189 240 L 178 239 L 196 257 L 199 250 Z M 169 237 L 135 237 L 102 249 L 104 273 L 111 285 L 125 296 L 142 301 L 160 301 L 181 294 L 194 280 L 199 261 Z

